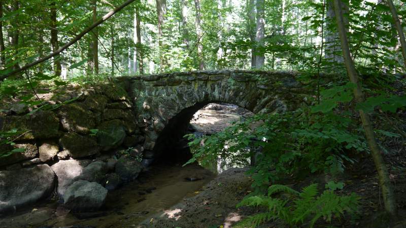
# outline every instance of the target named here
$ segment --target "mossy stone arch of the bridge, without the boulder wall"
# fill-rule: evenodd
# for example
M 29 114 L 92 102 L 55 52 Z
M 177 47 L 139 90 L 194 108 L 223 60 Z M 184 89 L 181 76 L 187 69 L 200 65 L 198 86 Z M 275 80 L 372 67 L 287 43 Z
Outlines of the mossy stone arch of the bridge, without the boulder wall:
M 144 147 L 152 151 L 147 157 L 162 149 L 157 145 L 162 133 L 171 135 L 168 140 L 183 136 L 193 114 L 208 103 L 231 103 L 254 113 L 295 109 L 303 97 L 296 77 L 293 72 L 222 70 L 132 78 L 129 89 L 146 135 Z

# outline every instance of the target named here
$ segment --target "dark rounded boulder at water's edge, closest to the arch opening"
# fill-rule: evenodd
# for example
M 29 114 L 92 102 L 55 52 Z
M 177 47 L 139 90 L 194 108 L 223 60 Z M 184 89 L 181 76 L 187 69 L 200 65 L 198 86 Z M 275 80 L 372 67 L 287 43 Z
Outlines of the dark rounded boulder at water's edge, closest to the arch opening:
M 127 156 L 121 156 L 116 164 L 116 173 L 124 182 L 136 179 L 142 170 L 143 166 L 139 161 Z

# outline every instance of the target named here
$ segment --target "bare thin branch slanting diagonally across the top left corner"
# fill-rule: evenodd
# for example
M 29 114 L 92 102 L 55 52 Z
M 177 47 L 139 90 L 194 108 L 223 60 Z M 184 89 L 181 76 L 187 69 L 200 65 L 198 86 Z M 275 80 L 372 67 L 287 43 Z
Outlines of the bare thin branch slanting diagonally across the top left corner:
M 21 71 L 24 71 L 32 66 L 35 66 L 37 64 L 40 64 L 56 55 L 58 55 L 59 53 L 61 53 L 62 51 L 64 51 L 65 49 L 71 47 L 73 44 L 75 44 L 77 41 L 79 41 L 84 35 L 86 35 L 88 32 L 90 32 L 93 28 L 97 27 L 99 24 L 105 22 L 106 20 L 108 20 L 111 16 L 113 16 L 114 14 L 116 14 L 117 12 L 119 12 L 120 10 L 122 10 L 124 7 L 128 6 L 129 4 L 133 3 L 135 0 L 127 0 L 126 2 L 124 2 L 123 4 L 121 4 L 120 6 L 116 7 L 114 10 L 110 11 L 109 13 L 107 13 L 106 15 L 104 15 L 103 17 L 101 17 L 100 19 L 98 19 L 94 24 L 92 24 L 91 26 L 87 27 L 85 30 L 83 30 L 81 33 L 79 33 L 78 35 L 76 35 L 74 37 L 74 39 L 72 39 L 69 43 L 63 45 L 61 48 L 59 48 L 58 50 L 56 50 L 55 52 L 45 56 L 44 58 L 41 58 L 39 60 L 33 61 L 31 63 L 28 63 L 26 65 L 24 65 L 23 67 L 17 69 L 17 70 L 13 70 L 10 73 L 6 73 L 6 74 L 1 74 L 0 75 L 0 81 L 3 81 L 5 79 L 7 79 L 8 77 L 10 77 L 11 75 L 14 75 L 16 73 L 19 73 Z

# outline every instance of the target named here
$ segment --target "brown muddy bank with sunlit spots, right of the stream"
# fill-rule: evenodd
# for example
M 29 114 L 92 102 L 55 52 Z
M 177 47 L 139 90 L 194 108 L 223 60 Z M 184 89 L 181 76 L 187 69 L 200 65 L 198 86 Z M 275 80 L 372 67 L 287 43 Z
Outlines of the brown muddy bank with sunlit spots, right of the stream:
M 170 209 L 151 215 L 137 227 L 232 227 L 251 209 L 236 209 L 251 192 L 246 168 L 231 168 L 204 186 L 198 195 L 183 199 Z

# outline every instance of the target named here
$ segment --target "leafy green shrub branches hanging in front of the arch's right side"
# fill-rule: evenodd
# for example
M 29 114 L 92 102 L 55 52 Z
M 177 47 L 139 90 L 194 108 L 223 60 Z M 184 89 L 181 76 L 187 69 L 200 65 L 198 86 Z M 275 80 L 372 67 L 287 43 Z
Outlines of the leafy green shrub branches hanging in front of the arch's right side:
M 254 123 L 257 127 L 251 129 Z M 309 109 L 255 115 L 217 134 L 186 137 L 191 140 L 193 153 L 186 164 L 198 161 L 209 166 L 218 157 L 226 157 L 244 166 L 249 158 L 257 156 L 257 164 L 248 171 L 256 193 L 281 176 L 341 173 L 346 163 L 355 162 L 350 154 L 368 151 L 362 133 L 350 118 L 332 112 L 319 115 Z

